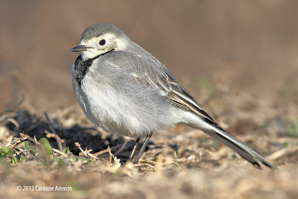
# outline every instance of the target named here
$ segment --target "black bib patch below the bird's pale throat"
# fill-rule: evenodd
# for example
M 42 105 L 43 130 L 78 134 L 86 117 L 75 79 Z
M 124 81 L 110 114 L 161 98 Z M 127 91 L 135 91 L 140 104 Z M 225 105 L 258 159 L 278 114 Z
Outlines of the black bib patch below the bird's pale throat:
M 81 87 L 82 79 L 85 77 L 86 73 L 89 71 L 90 66 L 93 61 L 98 58 L 100 55 L 97 55 L 94 58 L 83 60 L 82 56 L 79 55 L 75 60 L 74 64 L 74 76 L 77 79 L 79 86 Z

